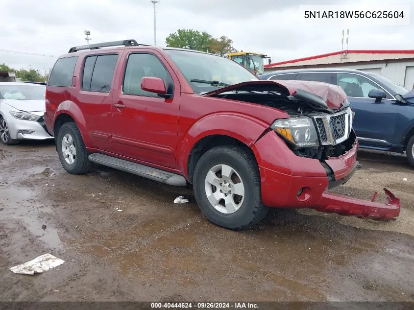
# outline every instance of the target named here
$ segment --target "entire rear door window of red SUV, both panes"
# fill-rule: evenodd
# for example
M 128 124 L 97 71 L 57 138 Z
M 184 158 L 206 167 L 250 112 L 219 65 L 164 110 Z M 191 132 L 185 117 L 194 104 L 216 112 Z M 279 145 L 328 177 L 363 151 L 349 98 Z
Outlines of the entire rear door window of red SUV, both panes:
M 83 66 L 82 89 L 108 93 L 111 90 L 117 60 L 118 55 L 87 57 Z

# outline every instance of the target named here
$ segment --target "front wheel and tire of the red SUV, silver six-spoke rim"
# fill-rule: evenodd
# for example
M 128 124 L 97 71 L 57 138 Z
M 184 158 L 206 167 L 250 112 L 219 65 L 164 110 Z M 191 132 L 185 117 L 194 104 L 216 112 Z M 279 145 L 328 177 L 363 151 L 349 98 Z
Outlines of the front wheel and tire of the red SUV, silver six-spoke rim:
M 268 214 L 259 167 L 246 147 L 217 146 L 204 153 L 195 167 L 194 194 L 201 212 L 225 228 L 243 230 Z

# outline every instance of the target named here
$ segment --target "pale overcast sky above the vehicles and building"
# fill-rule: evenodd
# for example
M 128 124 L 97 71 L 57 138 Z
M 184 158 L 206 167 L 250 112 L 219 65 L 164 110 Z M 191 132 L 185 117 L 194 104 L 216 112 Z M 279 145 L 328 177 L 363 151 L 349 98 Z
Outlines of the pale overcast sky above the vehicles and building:
M 379 4 L 411 4 L 410 25 L 322 25 L 301 20 L 299 4 L 349 4 L 372 10 Z M 353 6 L 352 6 L 353 5 Z M 0 63 L 44 72 L 70 47 L 136 39 L 153 44 L 150 0 L 0 0 Z M 273 62 L 341 50 L 349 28 L 349 49 L 414 49 L 414 0 L 160 0 L 157 45 L 178 28 L 226 35 L 237 49 L 263 52 Z M 15 51 L 15 52 L 6 52 Z M 32 53 L 23 54 L 24 53 Z

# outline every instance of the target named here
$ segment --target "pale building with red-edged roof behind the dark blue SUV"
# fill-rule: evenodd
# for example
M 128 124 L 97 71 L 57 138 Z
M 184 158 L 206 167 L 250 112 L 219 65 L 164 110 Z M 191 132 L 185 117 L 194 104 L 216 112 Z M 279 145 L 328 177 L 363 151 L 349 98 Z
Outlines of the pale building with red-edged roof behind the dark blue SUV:
M 407 50 L 343 50 L 328 54 L 272 63 L 265 73 L 302 68 L 347 68 L 384 75 L 414 89 L 414 49 Z

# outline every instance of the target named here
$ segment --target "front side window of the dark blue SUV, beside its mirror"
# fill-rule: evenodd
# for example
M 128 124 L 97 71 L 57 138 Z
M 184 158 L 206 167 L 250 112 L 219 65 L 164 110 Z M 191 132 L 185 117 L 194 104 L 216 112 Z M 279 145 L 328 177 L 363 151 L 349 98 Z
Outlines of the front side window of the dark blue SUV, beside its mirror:
M 361 75 L 338 73 L 338 85 L 342 87 L 345 94 L 349 97 L 369 98 L 370 90 L 380 88 L 374 82 Z

